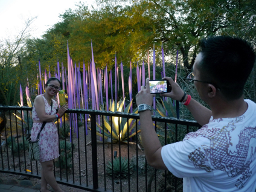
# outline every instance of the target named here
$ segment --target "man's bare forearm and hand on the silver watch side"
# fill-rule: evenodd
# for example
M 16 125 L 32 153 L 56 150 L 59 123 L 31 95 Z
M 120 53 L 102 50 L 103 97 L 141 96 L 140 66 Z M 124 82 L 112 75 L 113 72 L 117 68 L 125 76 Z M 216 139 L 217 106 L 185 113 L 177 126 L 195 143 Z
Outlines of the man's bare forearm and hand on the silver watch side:
M 153 97 L 149 92 L 149 78 L 146 80 L 146 88 L 141 86 L 141 91 L 136 95 L 136 104 L 149 104 L 152 106 Z M 154 168 L 168 170 L 161 156 L 161 142 L 156 135 L 153 127 L 152 115 L 150 110 L 139 112 L 141 123 L 141 139 L 147 162 Z

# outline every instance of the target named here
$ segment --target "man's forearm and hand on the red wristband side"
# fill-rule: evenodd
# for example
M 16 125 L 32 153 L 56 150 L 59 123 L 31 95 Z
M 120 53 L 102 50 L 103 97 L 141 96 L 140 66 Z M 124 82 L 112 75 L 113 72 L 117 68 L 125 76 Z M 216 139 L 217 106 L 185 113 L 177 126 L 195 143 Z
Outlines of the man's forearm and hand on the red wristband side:
M 170 97 L 173 100 L 180 101 L 184 95 L 184 91 L 178 85 L 178 83 L 173 82 L 171 77 L 164 77 L 163 79 L 168 80 L 171 85 L 171 92 L 166 94 L 161 94 L 163 97 Z M 184 101 L 187 100 L 187 96 L 185 97 Z M 191 114 L 193 115 L 194 119 L 199 123 L 201 126 L 209 123 L 211 118 L 212 112 L 210 109 L 206 108 L 193 98 L 191 98 L 190 104 L 186 106 L 188 110 L 190 110 Z

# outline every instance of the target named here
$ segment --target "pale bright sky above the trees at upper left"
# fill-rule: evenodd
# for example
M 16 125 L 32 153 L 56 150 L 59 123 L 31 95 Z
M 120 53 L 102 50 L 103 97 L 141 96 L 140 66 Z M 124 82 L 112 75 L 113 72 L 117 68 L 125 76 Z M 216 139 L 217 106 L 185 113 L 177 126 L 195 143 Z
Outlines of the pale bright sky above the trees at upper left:
M 91 7 L 94 0 L 80 0 Z M 61 21 L 59 14 L 75 9 L 79 0 L 0 0 L 0 39 L 18 35 L 28 18 L 37 18 L 31 25 L 31 37 L 40 38 L 44 32 Z

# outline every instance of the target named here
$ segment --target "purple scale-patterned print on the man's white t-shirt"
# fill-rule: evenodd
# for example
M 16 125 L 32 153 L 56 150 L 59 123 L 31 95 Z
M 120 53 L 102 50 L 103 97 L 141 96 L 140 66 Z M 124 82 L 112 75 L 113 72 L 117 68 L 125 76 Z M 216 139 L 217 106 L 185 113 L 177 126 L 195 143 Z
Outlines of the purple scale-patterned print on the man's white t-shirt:
M 222 124 L 223 119 L 211 120 L 197 132 L 188 133 L 185 140 L 204 137 L 210 140 L 210 146 L 198 147 L 194 152 L 188 155 L 188 161 L 194 164 L 194 167 L 211 172 L 213 169 L 225 171 L 229 177 L 241 175 L 237 179 L 235 186 L 242 188 L 251 177 L 250 164 L 255 158 L 256 147 L 249 152 L 249 144 L 252 138 L 256 138 L 256 127 L 238 127 L 237 124 L 245 120 L 244 116 L 230 118 L 231 121 L 222 128 L 208 127 L 211 122 Z M 215 124 L 216 125 L 216 124 Z M 241 130 L 241 131 L 240 131 Z M 232 132 L 237 132 L 237 136 L 231 136 Z M 238 141 L 235 146 L 235 152 L 231 152 L 229 147 L 232 141 Z M 252 147 L 253 148 L 253 147 Z M 251 156 L 248 161 L 246 159 Z M 213 168 L 211 168 L 208 164 Z

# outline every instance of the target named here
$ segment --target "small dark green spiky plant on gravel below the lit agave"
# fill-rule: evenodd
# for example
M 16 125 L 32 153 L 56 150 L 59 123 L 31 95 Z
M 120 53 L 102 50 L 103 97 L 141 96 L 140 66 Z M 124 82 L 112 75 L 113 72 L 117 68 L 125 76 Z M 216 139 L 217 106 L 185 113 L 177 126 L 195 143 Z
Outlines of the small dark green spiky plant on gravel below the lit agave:
M 129 167 L 131 174 L 133 165 L 129 165 L 126 158 L 118 157 L 107 163 L 107 174 L 109 174 L 109 176 L 114 176 L 114 178 L 127 178 L 129 175 Z

